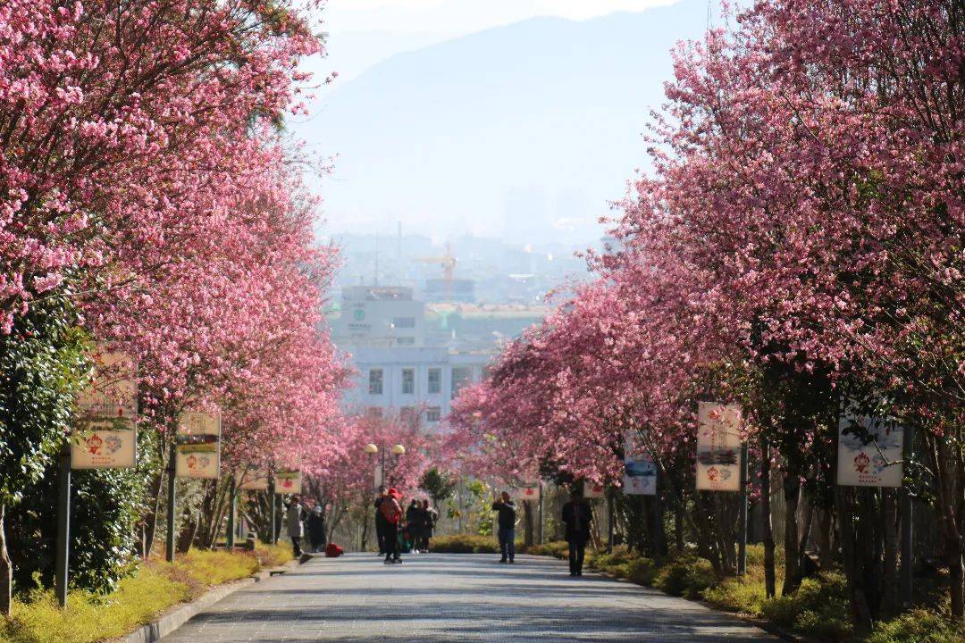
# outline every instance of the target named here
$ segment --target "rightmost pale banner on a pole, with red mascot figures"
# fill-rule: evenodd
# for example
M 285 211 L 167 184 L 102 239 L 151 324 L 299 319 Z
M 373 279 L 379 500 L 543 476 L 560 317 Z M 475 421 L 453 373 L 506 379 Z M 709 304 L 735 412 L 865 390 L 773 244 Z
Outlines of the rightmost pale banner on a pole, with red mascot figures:
M 866 444 L 865 439 L 870 442 Z M 904 428 L 894 419 L 843 415 L 838 429 L 838 484 L 900 487 L 903 441 Z

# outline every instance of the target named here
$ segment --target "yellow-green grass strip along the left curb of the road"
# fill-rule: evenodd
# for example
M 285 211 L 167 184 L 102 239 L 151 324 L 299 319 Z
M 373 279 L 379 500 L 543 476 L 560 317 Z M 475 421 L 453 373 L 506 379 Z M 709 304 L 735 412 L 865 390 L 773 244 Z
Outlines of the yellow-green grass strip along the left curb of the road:
M 150 623 L 168 607 L 192 601 L 207 588 L 276 567 L 291 558 L 290 550 L 262 547 L 256 551 L 192 549 L 174 563 L 152 559 L 124 578 L 105 596 L 73 591 L 60 609 L 49 590 L 36 590 L 15 601 L 12 618 L 0 621 L 3 643 L 97 643 Z

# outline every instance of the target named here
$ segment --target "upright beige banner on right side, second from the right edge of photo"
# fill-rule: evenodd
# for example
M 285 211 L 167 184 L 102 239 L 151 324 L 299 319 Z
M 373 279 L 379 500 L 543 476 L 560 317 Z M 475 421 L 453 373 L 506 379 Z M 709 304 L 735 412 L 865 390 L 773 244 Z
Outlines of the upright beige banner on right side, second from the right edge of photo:
M 698 402 L 697 489 L 740 491 L 741 408 Z

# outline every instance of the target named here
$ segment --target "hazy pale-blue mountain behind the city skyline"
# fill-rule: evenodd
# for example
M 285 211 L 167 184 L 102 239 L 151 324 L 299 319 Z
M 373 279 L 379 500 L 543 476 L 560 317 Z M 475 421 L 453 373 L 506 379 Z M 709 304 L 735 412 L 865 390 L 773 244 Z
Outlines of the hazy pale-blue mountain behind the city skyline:
M 295 125 L 338 154 L 321 185 L 329 229 L 397 219 L 410 231 L 592 240 L 647 162 L 677 40 L 706 4 L 577 22 L 534 18 L 396 55 Z M 338 60 L 331 61 L 338 67 Z

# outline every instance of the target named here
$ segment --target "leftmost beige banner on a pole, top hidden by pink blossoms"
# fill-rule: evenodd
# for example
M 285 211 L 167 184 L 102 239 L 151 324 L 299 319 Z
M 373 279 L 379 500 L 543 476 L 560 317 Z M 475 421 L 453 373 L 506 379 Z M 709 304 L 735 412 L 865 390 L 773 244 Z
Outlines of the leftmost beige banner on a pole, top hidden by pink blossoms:
M 70 439 L 71 469 L 128 469 L 137 465 L 137 380 L 123 353 L 94 356 L 91 382 L 77 396 Z

